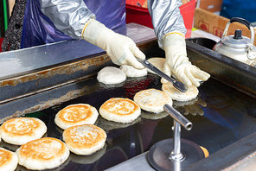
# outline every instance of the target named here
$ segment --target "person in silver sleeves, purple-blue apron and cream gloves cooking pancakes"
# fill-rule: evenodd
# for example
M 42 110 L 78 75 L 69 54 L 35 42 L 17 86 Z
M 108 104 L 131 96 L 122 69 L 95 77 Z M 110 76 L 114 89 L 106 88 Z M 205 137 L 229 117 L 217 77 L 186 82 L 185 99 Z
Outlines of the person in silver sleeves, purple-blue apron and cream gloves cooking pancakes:
M 3 51 L 82 38 L 104 49 L 117 65 L 144 68 L 135 57 L 145 59 L 145 56 L 134 41 L 112 31 L 125 24 L 125 0 L 16 0 L 16 3 L 3 40 Z M 198 79 L 207 80 L 209 74 L 189 62 L 181 5 L 182 0 L 148 0 L 158 44 L 166 54 L 163 73 L 175 74 L 186 85 L 199 86 Z M 23 22 L 16 23 L 22 17 Z M 13 33 L 18 29 L 21 34 L 20 28 L 22 37 Z M 13 41 L 16 36 L 20 39 Z

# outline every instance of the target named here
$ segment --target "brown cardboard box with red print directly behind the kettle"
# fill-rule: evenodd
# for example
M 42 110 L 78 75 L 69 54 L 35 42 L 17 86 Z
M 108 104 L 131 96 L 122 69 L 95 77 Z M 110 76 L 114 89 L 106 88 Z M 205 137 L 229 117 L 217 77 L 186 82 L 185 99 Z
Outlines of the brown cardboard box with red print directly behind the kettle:
M 209 12 L 205 9 L 196 8 L 194 28 L 199 28 L 203 31 L 221 37 L 229 20 L 230 19 L 227 19 L 226 17 L 215 15 L 214 13 Z M 241 24 L 240 22 L 231 23 L 228 27 L 227 35 L 234 35 L 234 31 L 236 29 L 241 29 L 243 36 L 251 38 L 251 31 L 246 27 L 246 25 Z M 254 45 L 256 45 L 255 38 L 256 29 L 254 28 Z

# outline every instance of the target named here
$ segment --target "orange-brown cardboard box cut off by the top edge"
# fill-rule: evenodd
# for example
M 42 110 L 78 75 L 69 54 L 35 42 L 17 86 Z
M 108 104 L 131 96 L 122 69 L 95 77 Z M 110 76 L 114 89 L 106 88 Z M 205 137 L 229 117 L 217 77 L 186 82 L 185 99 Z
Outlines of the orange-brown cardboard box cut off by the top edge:
M 199 0 L 197 1 L 199 4 L 197 4 L 196 7 L 210 12 L 218 12 L 221 11 L 222 2 L 223 0 Z

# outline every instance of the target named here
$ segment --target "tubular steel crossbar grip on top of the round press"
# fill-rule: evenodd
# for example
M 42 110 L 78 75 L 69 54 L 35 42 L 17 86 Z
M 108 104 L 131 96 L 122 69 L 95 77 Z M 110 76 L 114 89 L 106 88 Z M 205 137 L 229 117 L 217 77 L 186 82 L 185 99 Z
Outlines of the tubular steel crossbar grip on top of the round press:
M 178 111 L 176 111 L 173 107 L 171 107 L 169 104 L 163 105 L 163 110 L 170 114 L 171 117 L 173 117 L 176 122 L 181 123 L 181 125 L 186 130 L 192 129 L 192 123 L 186 118 L 183 117 L 182 114 Z

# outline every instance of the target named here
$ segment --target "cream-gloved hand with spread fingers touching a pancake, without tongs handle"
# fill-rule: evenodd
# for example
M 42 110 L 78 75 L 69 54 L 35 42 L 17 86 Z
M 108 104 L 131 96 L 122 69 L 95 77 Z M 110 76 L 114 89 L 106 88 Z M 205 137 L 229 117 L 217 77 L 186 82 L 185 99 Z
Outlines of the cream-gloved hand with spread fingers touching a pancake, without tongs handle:
M 180 33 L 170 33 L 163 39 L 165 63 L 163 73 L 176 75 L 185 85 L 199 86 L 199 80 L 207 80 L 210 75 L 191 64 L 187 57 L 185 37 Z M 161 79 L 166 83 L 166 79 Z

